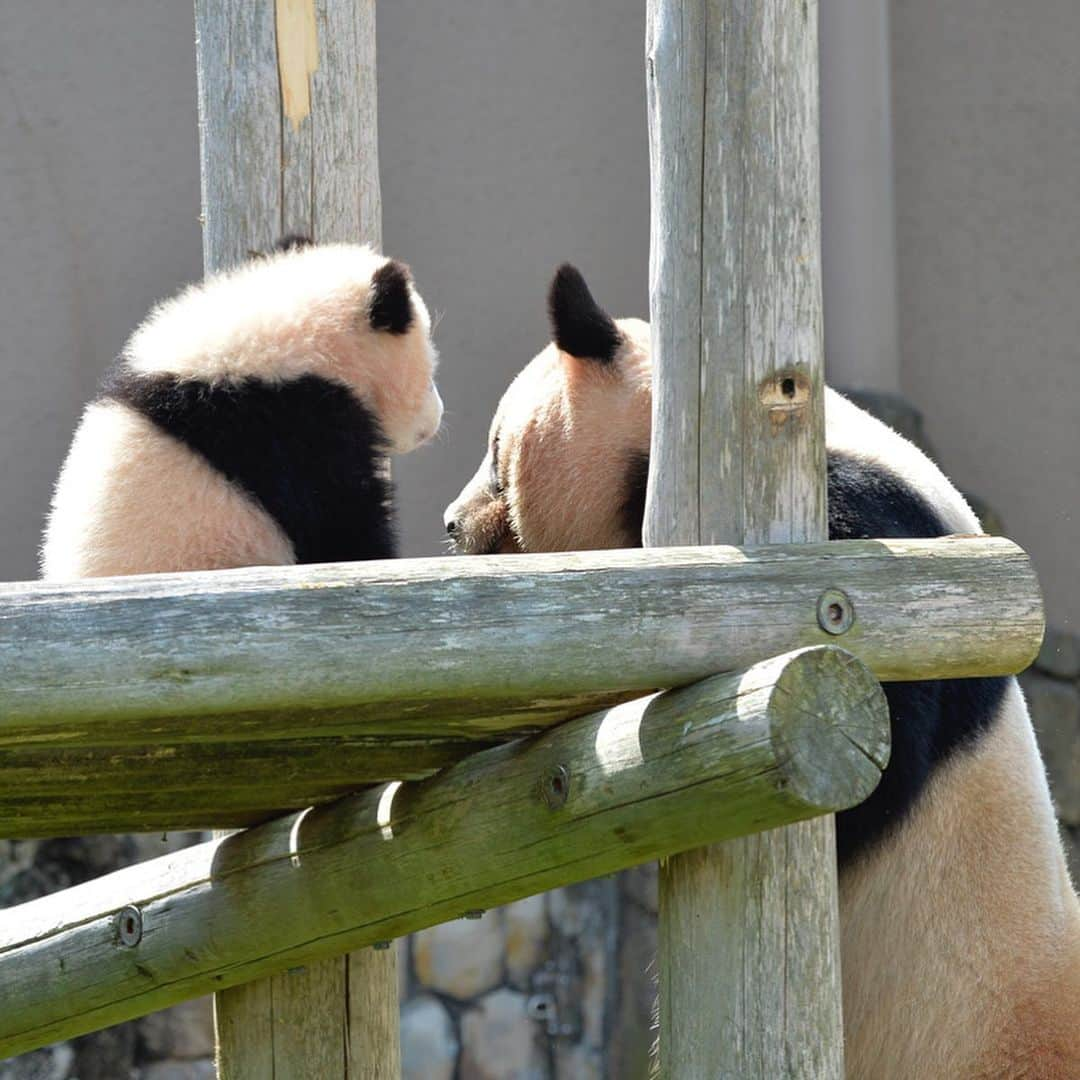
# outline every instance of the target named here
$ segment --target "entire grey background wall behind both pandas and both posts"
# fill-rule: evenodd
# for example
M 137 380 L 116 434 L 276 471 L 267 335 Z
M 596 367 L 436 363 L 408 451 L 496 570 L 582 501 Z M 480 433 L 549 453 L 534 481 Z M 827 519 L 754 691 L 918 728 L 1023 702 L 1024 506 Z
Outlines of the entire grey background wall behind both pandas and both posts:
M 831 366 L 887 388 L 882 3 L 823 4 L 823 186 Z M 544 340 L 553 266 L 579 261 L 613 310 L 644 312 L 643 8 L 380 5 L 386 242 L 443 313 L 446 433 L 397 470 L 410 553 L 438 550 L 441 509 L 502 387 Z M 1052 617 L 1076 624 L 1080 8 L 962 8 L 892 4 L 900 382 L 946 468 L 1035 553 Z M 147 307 L 198 274 L 198 200 L 190 6 L 13 8 L 0 33 L 0 577 L 33 573 L 49 487 L 100 372 Z

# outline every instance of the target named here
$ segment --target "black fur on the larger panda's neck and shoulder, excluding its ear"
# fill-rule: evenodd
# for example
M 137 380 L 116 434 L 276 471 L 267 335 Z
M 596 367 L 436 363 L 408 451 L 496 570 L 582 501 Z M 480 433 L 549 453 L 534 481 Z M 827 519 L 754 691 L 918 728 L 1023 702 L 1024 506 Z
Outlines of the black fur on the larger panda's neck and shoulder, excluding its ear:
M 829 450 L 827 476 L 831 540 L 940 537 L 949 531 L 918 491 L 880 465 Z M 624 505 L 626 523 L 636 523 L 638 537 L 647 478 L 648 455 L 635 455 Z M 905 819 L 934 770 L 990 726 L 1008 685 L 1005 678 L 886 684 L 892 755 L 874 794 L 836 815 L 841 865 Z

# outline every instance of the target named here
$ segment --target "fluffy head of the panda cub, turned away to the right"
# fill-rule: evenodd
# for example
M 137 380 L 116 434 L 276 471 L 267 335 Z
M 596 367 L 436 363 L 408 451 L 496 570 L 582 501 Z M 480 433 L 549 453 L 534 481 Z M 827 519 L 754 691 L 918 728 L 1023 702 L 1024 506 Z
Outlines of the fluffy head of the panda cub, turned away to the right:
M 431 318 L 408 268 L 366 246 L 289 237 L 273 252 L 160 305 L 123 360 L 211 383 L 343 383 L 404 454 L 438 429 Z

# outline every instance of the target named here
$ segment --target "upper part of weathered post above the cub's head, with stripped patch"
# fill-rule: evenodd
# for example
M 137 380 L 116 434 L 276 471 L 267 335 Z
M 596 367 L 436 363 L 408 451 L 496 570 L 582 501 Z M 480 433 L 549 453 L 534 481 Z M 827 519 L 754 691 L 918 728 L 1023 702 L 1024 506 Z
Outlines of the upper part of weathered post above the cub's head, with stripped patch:
M 195 39 L 206 272 L 286 233 L 379 247 L 375 0 L 195 0 Z

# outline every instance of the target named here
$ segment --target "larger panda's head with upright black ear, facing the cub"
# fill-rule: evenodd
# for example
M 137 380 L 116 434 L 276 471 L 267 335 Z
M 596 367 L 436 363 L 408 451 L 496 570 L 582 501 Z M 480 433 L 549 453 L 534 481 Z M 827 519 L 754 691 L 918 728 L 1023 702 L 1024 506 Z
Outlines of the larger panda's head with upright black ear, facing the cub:
M 612 319 L 572 266 L 548 293 L 552 342 L 502 395 L 487 451 L 446 509 L 465 554 L 640 544 L 649 327 Z

